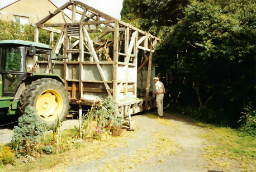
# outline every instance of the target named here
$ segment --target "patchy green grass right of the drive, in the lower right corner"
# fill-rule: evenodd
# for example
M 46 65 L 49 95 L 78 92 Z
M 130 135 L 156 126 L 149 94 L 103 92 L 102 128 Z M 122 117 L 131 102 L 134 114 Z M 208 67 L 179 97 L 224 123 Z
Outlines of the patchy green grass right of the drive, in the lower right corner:
M 202 155 L 206 160 L 211 160 L 226 170 L 229 170 L 230 166 L 235 166 L 241 171 L 256 171 L 255 137 L 241 137 L 231 128 L 199 125 L 212 128 L 211 133 L 197 135 L 210 142 L 210 145 L 205 147 L 206 153 Z

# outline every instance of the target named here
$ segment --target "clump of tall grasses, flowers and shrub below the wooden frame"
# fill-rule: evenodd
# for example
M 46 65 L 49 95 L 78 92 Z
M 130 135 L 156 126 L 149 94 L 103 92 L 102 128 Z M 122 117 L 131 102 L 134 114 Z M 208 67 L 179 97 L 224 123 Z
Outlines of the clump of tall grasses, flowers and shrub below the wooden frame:
M 122 133 L 122 116 L 117 112 L 115 102 L 111 97 L 98 99 L 93 102 L 88 113 L 82 116 L 82 138 L 105 140 L 110 136 L 119 136 Z M 79 127 L 74 126 L 79 132 Z

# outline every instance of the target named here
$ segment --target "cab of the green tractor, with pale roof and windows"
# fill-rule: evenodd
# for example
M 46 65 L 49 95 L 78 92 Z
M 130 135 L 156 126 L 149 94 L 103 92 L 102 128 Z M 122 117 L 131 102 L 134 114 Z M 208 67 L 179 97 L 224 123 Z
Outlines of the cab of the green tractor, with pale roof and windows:
M 25 79 L 28 73 L 36 73 L 36 55 L 48 59 L 49 73 L 53 73 L 50 51 L 51 48 L 45 44 L 21 40 L 0 41 L 2 96 L 13 97 L 18 83 Z

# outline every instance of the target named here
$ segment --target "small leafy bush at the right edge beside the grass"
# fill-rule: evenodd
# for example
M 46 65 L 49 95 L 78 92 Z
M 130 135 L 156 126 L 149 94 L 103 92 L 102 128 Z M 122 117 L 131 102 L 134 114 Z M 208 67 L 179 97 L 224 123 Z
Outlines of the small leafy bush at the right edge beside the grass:
M 243 135 L 251 135 L 256 136 L 256 111 L 252 105 L 246 106 L 244 108 L 245 112 L 241 112 L 244 116 L 242 116 L 239 122 L 243 124 L 239 128 L 239 131 L 243 133 Z

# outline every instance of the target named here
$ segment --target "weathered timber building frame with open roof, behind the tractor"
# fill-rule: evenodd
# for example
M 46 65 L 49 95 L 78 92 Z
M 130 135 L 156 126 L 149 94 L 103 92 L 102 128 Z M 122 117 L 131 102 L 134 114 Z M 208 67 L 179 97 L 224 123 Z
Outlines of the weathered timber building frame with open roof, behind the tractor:
M 68 23 L 64 9 L 72 11 Z M 63 22 L 47 24 L 58 13 Z M 80 16 L 80 18 L 78 18 Z M 39 28 L 50 31 L 50 44 L 54 52 L 63 50 L 68 59 L 54 61 L 54 73 L 65 80 L 72 104 L 91 105 L 96 98 L 111 95 L 119 112 L 137 113 L 154 107 L 154 98 L 148 98 L 151 78 L 151 57 L 159 41 L 125 22 L 116 20 L 79 1 L 69 1 L 32 25 L 35 42 L 39 42 Z M 62 28 L 56 29 L 54 27 Z M 89 33 L 99 33 L 91 39 Z M 59 34 L 54 46 L 54 33 Z M 104 39 L 104 36 L 108 36 Z M 78 46 L 78 47 L 77 47 Z M 77 47 L 77 48 L 75 48 Z M 138 53 L 144 51 L 144 63 L 138 68 Z M 78 58 L 74 60 L 74 56 Z M 89 58 L 88 58 L 89 56 Z M 89 59 L 89 60 L 85 60 Z M 105 59 L 105 61 L 103 60 Z M 137 73 L 148 62 L 145 99 L 137 98 Z M 46 61 L 37 61 L 37 72 L 47 72 Z

